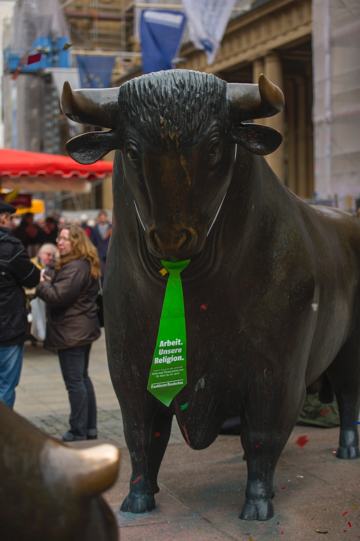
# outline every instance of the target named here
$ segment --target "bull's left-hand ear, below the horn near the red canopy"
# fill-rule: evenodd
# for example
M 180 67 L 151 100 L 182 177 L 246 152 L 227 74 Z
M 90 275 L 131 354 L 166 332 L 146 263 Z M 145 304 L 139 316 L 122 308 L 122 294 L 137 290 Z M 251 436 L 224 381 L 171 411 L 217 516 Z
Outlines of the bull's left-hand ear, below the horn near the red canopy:
M 91 131 L 73 137 L 66 143 L 65 148 L 76 162 L 88 165 L 100 160 L 110 150 L 119 148 L 118 135 L 116 130 Z

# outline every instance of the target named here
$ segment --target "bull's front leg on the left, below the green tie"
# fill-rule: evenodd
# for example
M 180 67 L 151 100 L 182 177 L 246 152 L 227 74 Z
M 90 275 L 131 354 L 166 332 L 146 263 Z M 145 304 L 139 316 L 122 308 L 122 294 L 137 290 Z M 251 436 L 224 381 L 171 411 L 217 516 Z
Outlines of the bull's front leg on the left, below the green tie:
M 123 414 L 124 433 L 132 462 L 130 492 L 121 505 L 121 511 L 145 513 L 155 509 L 154 494 L 161 460 L 171 433 L 173 415 L 150 398 L 151 405 L 142 404 L 142 417 Z M 124 410 L 123 410 L 124 411 Z M 145 413 L 146 412 L 146 413 Z

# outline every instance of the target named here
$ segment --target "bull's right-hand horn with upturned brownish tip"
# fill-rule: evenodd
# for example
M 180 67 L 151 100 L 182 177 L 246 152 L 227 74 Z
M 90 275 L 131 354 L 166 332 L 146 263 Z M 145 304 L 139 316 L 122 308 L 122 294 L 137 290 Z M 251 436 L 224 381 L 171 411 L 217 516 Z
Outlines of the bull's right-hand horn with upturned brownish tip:
M 285 98 L 279 87 L 261 74 L 259 84 L 227 83 L 227 102 L 231 120 L 239 121 L 276 115 Z

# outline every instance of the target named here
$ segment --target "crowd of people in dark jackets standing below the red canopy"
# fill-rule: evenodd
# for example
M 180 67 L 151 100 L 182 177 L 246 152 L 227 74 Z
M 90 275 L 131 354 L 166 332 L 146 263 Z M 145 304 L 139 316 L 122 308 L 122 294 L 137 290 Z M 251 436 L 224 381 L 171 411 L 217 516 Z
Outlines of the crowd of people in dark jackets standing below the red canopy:
M 29 298 L 46 304 L 44 345 L 53 349 L 70 403 L 69 430 L 63 441 L 96 439 L 96 399 L 89 378 L 91 344 L 100 336 L 97 296 L 103 280 L 111 235 L 107 213 L 87 217 L 34 220 L 0 201 L 0 400 L 14 406 Z

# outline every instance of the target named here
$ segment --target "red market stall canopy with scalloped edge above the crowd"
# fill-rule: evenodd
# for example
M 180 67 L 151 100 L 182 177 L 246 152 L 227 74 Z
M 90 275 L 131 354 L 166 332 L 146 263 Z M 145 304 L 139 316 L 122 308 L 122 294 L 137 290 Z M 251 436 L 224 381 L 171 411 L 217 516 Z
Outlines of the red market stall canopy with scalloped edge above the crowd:
M 90 182 L 111 175 L 113 163 L 84 166 L 68 156 L 0 149 L 0 188 L 31 192 L 87 193 Z

